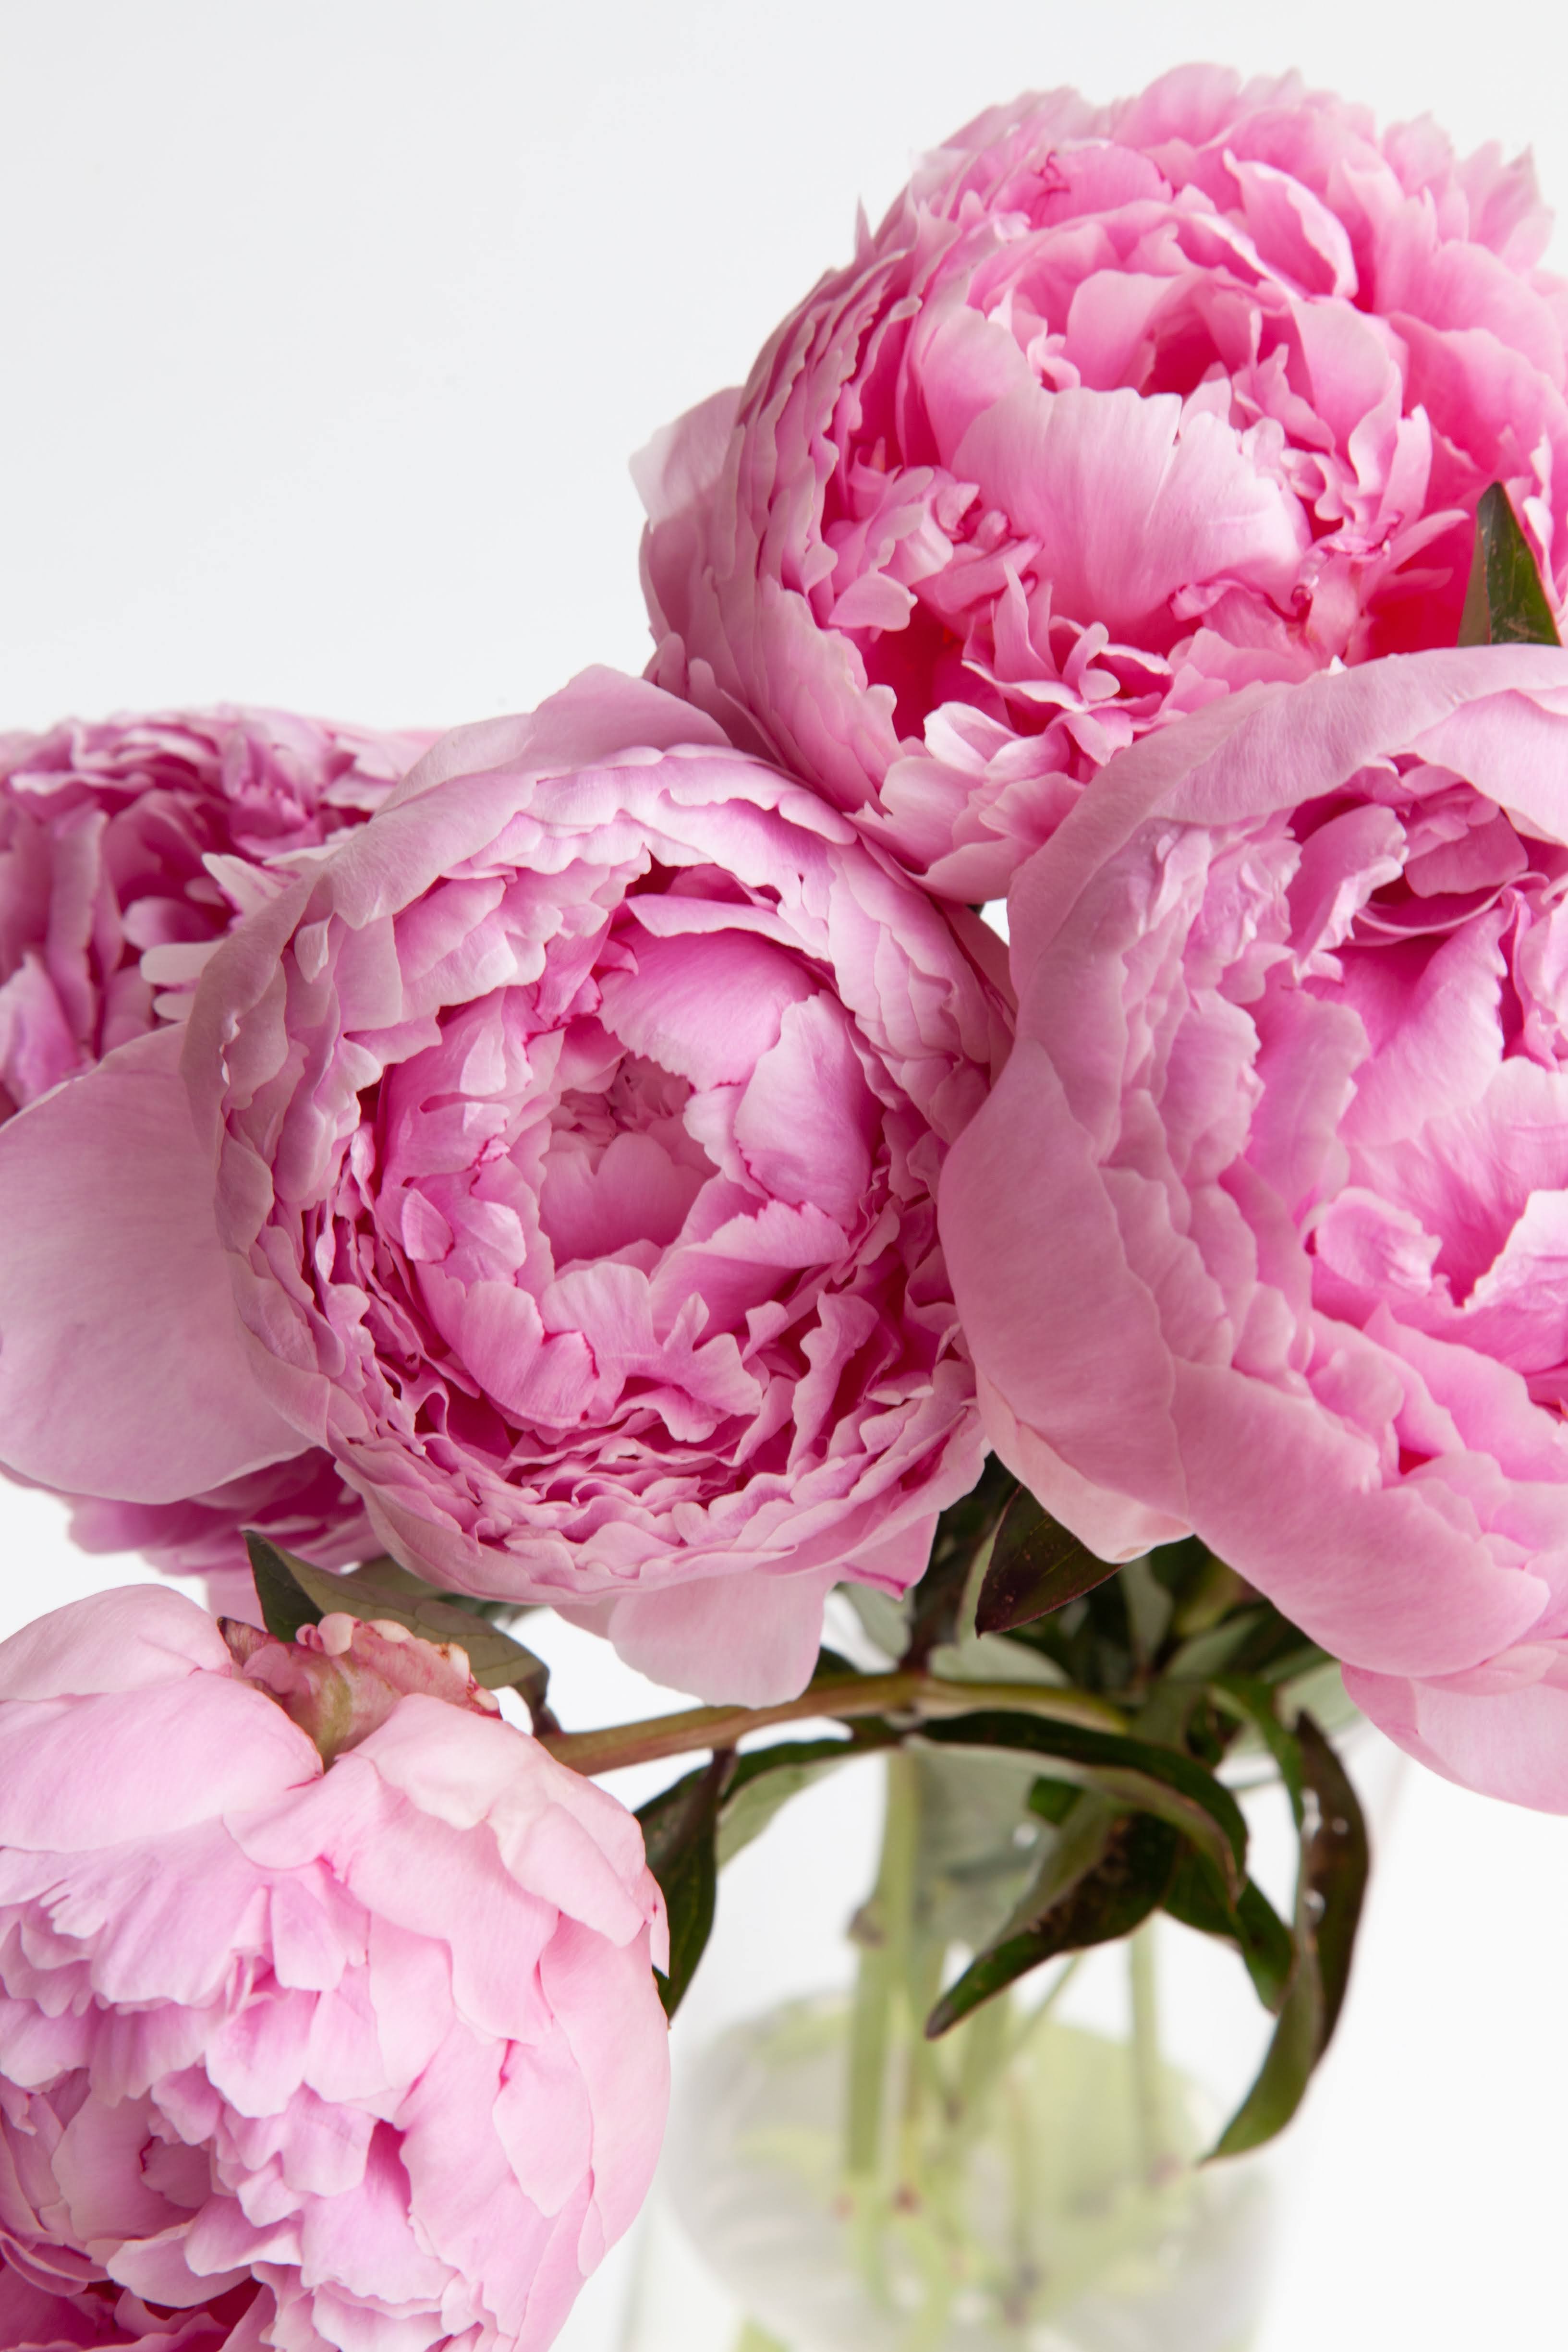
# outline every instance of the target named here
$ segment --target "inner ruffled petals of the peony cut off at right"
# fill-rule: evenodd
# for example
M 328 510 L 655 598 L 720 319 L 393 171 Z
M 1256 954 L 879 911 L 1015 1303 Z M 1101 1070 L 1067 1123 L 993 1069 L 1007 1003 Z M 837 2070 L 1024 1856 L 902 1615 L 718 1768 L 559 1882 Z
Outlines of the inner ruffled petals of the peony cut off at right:
M 1319 908 L 1359 901 L 1345 943 L 1324 934 L 1319 948 L 1338 978 L 1307 978 L 1366 1040 L 1342 1084 L 1340 1181 L 1307 1216 L 1314 1298 L 1361 1324 L 1382 1305 L 1561 1404 L 1568 849 L 1521 835 L 1443 771 L 1401 764 L 1420 797 L 1328 816 L 1293 889 Z M 1274 1058 L 1265 1047 L 1265 1084 Z

